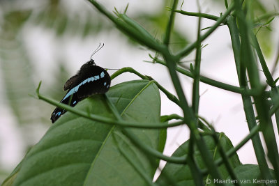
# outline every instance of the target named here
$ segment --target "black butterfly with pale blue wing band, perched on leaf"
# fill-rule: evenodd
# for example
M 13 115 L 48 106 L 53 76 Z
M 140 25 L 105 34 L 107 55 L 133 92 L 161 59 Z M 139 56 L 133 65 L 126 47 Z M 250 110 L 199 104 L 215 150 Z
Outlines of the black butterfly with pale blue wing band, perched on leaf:
M 95 54 L 94 52 L 93 54 Z M 92 55 L 93 55 L 92 54 Z M 84 98 L 88 98 L 93 94 L 106 93 L 110 88 L 110 75 L 107 70 L 99 67 L 91 59 L 82 67 L 76 75 L 68 79 L 64 85 L 64 91 L 68 90 L 66 95 L 61 100 L 61 103 L 69 104 L 74 107 L 77 102 Z M 66 110 L 56 107 L 52 112 L 52 123 L 54 123 Z

